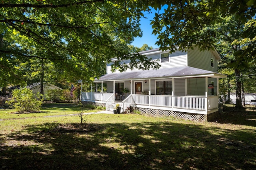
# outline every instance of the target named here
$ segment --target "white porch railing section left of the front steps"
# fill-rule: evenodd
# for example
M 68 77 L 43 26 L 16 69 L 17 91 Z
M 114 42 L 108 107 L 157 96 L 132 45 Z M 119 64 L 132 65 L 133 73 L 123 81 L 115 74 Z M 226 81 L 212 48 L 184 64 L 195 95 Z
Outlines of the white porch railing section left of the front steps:
M 106 101 L 112 93 L 96 93 L 96 92 L 82 92 L 82 101 L 99 100 Z

